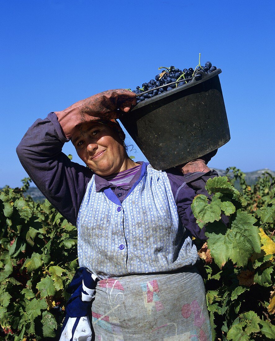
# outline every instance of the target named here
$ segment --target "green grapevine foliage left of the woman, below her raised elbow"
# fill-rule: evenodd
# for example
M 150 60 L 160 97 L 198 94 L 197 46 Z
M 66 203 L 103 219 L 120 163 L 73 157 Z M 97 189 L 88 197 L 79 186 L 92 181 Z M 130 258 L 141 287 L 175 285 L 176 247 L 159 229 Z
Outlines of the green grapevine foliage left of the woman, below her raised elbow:
M 21 188 L 0 192 L 0 337 L 57 339 L 77 263 L 77 230 Z

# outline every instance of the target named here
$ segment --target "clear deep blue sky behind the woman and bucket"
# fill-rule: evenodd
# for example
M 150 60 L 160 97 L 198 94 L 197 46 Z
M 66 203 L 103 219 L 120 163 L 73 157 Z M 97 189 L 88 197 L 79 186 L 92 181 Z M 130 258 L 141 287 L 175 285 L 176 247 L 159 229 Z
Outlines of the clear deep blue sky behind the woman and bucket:
M 37 118 L 135 88 L 159 66 L 194 68 L 199 53 L 222 69 L 231 132 L 209 165 L 275 170 L 274 8 L 253 0 L 1 1 L 0 187 L 26 176 L 15 148 Z M 70 143 L 64 152 L 79 160 Z

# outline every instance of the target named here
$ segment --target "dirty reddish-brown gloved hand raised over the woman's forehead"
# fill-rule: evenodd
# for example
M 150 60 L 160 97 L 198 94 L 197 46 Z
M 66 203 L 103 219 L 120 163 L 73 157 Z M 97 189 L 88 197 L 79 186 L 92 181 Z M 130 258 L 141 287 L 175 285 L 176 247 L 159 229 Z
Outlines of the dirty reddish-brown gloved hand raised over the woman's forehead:
M 134 92 L 114 89 L 97 93 L 55 114 L 64 135 L 71 138 L 79 124 L 118 118 L 120 112 L 128 113 L 136 102 Z

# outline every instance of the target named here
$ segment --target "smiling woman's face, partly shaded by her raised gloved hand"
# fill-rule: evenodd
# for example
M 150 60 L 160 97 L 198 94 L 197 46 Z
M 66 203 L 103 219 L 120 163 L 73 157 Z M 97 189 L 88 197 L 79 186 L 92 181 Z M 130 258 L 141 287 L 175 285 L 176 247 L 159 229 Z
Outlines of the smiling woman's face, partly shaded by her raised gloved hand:
M 83 123 L 72 136 L 78 156 L 94 173 L 107 176 L 119 173 L 127 164 L 128 155 L 118 132 L 98 122 Z

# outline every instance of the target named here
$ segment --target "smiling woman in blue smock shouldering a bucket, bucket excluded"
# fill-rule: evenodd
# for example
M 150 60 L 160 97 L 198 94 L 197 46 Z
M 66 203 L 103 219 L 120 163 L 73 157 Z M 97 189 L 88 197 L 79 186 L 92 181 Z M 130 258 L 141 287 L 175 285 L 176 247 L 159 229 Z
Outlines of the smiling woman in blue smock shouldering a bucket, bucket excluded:
M 204 160 L 182 172 L 131 160 L 114 119 L 135 97 L 109 90 L 50 113 L 29 128 L 17 153 L 45 197 L 78 227 L 79 265 L 99 279 L 95 340 L 211 340 L 191 235 L 205 236 L 190 205 L 217 173 Z M 87 167 L 61 152 L 69 140 Z M 82 331 L 87 336 L 73 340 L 91 340 Z

